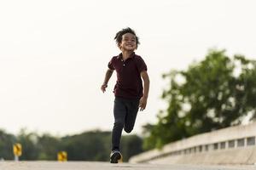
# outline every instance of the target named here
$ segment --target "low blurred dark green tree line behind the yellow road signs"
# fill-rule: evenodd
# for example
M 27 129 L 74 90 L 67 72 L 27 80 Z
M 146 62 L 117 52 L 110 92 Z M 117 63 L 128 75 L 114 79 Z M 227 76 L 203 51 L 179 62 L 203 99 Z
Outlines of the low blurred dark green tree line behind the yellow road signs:
M 0 130 L 0 159 L 13 160 L 13 144 L 22 145 L 21 161 L 57 159 L 59 151 L 67 151 L 68 161 L 109 161 L 111 132 L 100 130 L 84 132 L 62 138 L 44 133 L 28 133 L 21 129 L 15 135 Z M 137 135 L 127 135 L 121 140 L 124 161 L 142 152 L 143 140 Z

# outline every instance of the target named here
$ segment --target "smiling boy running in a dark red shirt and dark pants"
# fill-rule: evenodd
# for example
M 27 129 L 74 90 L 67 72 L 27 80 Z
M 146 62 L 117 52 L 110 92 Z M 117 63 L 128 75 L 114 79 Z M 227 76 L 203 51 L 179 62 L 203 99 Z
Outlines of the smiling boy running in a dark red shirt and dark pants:
M 137 117 L 137 111 L 143 111 L 147 105 L 149 78 L 147 65 L 143 59 L 134 53 L 139 44 L 135 31 L 125 28 L 114 37 L 121 53 L 114 56 L 108 63 L 108 71 L 102 84 L 102 92 L 106 91 L 108 81 L 115 70 L 117 82 L 113 93 L 113 131 L 112 150 L 110 162 L 118 163 L 122 158 L 119 143 L 123 128 L 126 133 L 131 133 Z M 143 81 L 142 81 L 143 78 Z

